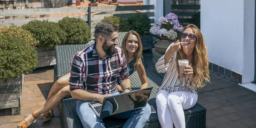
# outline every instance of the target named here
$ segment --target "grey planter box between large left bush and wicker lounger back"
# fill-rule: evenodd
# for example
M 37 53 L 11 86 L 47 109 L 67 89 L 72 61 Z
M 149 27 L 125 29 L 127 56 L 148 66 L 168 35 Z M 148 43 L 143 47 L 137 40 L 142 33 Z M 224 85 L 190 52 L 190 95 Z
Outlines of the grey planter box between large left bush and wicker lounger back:
M 38 52 L 38 67 L 47 67 L 56 64 L 55 50 L 54 49 L 45 49 L 44 47 L 37 47 L 36 51 Z

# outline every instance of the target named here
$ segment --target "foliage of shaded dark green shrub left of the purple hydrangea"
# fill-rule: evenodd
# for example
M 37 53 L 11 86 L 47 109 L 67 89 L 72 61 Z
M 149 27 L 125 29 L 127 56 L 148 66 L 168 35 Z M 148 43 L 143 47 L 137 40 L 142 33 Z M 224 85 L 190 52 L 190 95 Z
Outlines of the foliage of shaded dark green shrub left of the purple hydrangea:
M 134 14 L 128 17 L 131 30 L 137 31 L 140 36 L 149 34 L 151 28 L 150 19 L 146 14 Z

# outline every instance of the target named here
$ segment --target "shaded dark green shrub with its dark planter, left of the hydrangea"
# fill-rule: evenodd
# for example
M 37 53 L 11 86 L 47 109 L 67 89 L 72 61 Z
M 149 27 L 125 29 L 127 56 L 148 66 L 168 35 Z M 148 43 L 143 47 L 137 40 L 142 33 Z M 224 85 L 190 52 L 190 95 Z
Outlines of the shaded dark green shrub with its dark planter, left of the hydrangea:
M 149 32 L 151 25 L 150 19 L 146 14 L 134 14 L 128 17 L 131 30 L 140 34 L 143 50 L 153 47 L 153 35 Z

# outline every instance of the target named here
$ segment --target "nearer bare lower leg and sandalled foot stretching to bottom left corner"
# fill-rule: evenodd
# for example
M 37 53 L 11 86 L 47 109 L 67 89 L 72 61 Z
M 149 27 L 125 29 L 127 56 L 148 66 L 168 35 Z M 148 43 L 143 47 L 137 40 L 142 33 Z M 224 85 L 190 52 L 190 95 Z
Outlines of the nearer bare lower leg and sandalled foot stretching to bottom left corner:
M 36 117 L 39 117 L 41 114 L 54 109 L 56 106 L 58 106 L 58 104 L 61 102 L 61 99 L 63 99 L 64 97 L 66 97 L 67 95 L 70 95 L 70 87 L 69 85 L 64 86 L 62 89 L 60 89 L 57 93 L 55 93 L 55 95 L 53 95 L 48 102 L 46 102 L 44 104 L 44 106 L 42 106 L 40 109 L 35 110 L 34 114 Z M 33 121 L 33 117 L 30 114 L 28 117 L 25 118 L 25 121 L 30 125 L 31 122 Z M 21 125 L 20 125 L 20 128 Z

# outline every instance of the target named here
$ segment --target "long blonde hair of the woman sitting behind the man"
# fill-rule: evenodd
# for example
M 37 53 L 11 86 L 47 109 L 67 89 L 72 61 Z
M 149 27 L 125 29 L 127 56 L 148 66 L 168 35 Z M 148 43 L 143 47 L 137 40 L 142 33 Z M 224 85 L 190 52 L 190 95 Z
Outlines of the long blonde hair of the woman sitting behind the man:
M 134 61 L 134 72 L 135 72 L 135 71 L 137 71 L 140 63 L 142 62 L 141 61 L 141 57 L 142 57 L 142 43 L 141 43 L 140 35 L 136 31 L 128 31 L 125 34 L 125 37 L 122 40 L 122 50 L 124 51 L 125 58 L 127 60 L 128 53 L 127 53 L 127 50 L 125 48 L 126 47 L 126 40 L 128 39 L 128 36 L 130 36 L 131 34 L 136 36 L 137 39 L 138 39 L 138 48 L 137 48 L 137 50 L 135 51 L 135 54 L 134 54 L 134 58 L 135 58 L 135 61 Z M 129 68 L 129 62 L 128 61 L 127 61 L 127 67 Z

